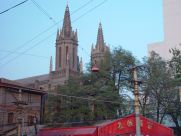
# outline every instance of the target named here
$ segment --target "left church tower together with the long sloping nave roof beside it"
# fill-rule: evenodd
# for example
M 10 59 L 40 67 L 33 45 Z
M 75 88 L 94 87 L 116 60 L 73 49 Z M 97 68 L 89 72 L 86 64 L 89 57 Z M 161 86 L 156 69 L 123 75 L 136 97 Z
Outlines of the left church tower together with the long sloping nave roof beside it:
M 64 14 L 63 27 L 61 30 L 57 30 L 55 70 L 53 71 L 52 69 L 51 58 L 50 72 L 48 74 L 28 77 L 16 81 L 28 87 L 44 89 L 46 91 L 54 89 L 57 85 L 65 84 L 70 76 L 76 76 L 82 71 L 82 69 L 80 69 L 82 68 L 82 61 L 79 63 L 77 48 L 77 30 L 72 30 L 70 12 L 67 5 Z

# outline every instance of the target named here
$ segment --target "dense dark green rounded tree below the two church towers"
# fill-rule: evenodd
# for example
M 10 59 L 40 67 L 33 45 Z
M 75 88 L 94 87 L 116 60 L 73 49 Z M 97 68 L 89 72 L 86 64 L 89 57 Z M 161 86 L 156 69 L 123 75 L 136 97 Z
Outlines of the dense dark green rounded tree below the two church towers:
M 80 122 L 115 118 L 121 99 L 118 93 L 113 92 L 112 86 L 111 81 L 106 79 L 102 72 L 85 74 L 81 78 L 71 78 L 67 85 L 59 86 L 56 90 L 57 94 L 63 95 L 50 95 L 47 122 Z

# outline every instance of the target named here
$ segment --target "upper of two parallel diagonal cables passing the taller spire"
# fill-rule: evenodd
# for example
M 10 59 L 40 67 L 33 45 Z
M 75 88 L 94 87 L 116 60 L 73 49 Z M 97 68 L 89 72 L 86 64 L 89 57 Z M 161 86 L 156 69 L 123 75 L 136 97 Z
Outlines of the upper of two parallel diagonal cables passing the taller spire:
M 82 5 L 81 7 L 79 7 L 78 9 L 74 10 L 71 15 L 75 14 L 76 12 L 78 12 L 80 9 L 84 8 L 85 6 L 87 6 L 89 3 L 91 3 L 93 0 L 89 0 L 87 3 L 85 3 L 84 5 Z M 25 45 L 31 43 L 32 41 L 34 41 L 35 39 L 37 39 L 38 37 L 40 37 L 42 34 L 48 32 L 49 30 L 51 30 L 52 28 L 54 28 L 56 25 L 58 25 L 60 22 L 62 22 L 62 20 L 56 22 L 55 24 L 53 24 L 52 26 L 50 26 L 49 28 L 45 29 L 44 31 L 38 33 L 37 35 L 35 35 L 33 38 L 31 38 L 30 40 L 26 41 L 25 43 L 23 43 L 22 45 L 18 46 L 17 48 L 15 48 L 13 51 L 16 52 L 17 50 L 23 48 Z M 8 53 L 7 55 L 5 55 L 4 57 L 0 58 L 0 60 L 3 60 L 7 57 L 9 57 L 9 55 L 11 55 L 11 53 Z

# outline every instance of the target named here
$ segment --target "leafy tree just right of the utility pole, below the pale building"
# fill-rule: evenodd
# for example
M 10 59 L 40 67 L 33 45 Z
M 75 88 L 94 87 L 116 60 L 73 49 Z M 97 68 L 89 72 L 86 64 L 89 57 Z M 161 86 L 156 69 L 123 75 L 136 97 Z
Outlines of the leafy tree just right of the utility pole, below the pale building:
M 143 113 L 146 115 L 147 112 L 149 116 L 156 118 L 157 122 L 162 123 L 167 113 L 165 99 L 172 95 L 171 71 L 167 63 L 155 52 L 151 52 L 146 65 L 147 74 L 144 76 L 144 88 L 142 88 Z

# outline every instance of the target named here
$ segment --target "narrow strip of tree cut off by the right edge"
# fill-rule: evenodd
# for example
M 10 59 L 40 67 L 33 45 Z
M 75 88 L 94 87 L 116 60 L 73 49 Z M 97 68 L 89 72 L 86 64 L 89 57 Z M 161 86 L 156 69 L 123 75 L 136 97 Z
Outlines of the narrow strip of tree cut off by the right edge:
M 181 124 L 179 124 L 181 121 L 181 101 L 179 98 L 179 89 L 181 86 L 181 50 L 174 48 L 170 50 L 170 53 L 172 53 L 172 58 L 169 66 L 172 69 L 173 85 L 175 88 L 173 89 L 174 96 L 168 105 L 168 114 L 175 123 L 177 134 L 181 135 Z

